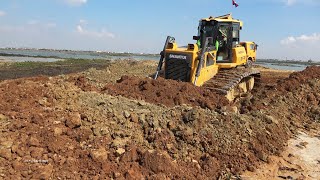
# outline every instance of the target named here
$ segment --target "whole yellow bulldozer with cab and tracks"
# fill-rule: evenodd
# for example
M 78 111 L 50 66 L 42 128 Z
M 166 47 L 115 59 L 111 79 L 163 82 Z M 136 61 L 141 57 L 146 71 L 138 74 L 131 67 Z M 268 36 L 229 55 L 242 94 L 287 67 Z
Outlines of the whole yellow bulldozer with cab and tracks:
M 242 26 L 231 14 L 210 16 L 200 20 L 194 44 L 178 47 L 168 36 L 154 79 L 162 73 L 165 79 L 203 86 L 230 101 L 251 91 L 260 80 L 260 72 L 253 68 L 258 45 L 240 42 Z

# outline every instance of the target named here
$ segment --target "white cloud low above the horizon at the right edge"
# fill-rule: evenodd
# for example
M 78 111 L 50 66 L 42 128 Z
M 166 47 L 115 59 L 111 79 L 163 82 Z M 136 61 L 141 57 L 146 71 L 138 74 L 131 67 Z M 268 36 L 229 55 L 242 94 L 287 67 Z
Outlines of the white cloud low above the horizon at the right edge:
M 290 45 L 294 43 L 308 43 L 308 42 L 320 42 L 320 33 L 313 33 L 311 35 L 301 35 L 298 37 L 289 36 L 280 41 L 282 45 Z

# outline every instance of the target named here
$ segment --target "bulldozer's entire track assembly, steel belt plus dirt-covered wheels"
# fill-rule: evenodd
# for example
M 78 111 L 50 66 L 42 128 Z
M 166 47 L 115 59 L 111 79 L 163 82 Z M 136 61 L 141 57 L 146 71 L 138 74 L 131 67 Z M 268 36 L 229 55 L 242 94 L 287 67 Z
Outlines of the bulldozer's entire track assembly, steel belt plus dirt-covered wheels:
M 251 91 L 260 82 L 260 71 L 252 68 L 220 70 L 203 87 L 224 94 L 229 101 Z

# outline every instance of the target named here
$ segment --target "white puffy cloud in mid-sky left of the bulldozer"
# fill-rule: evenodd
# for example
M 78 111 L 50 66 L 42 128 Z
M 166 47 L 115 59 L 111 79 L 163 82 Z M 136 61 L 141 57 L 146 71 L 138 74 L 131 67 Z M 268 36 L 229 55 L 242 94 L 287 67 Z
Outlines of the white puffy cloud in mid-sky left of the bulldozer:
M 93 31 L 93 30 L 87 30 L 84 27 L 86 26 L 87 21 L 80 20 L 80 23 L 76 27 L 76 32 L 80 35 L 88 36 L 88 37 L 94 37 L 94 38 L 115 38 L 115 34 L 108 32 L 105 29 L 102 29 L 101 31 Z

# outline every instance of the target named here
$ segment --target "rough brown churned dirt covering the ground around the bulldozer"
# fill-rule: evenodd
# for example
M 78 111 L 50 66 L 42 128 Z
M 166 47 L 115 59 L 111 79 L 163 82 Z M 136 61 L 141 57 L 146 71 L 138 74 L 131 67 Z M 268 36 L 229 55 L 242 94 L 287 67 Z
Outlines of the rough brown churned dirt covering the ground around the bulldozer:
M 155 69 L 118 61 L 1 81 L 0 177 L 228 179 L 271 162 L 298 131 L 319 132 L 320 67 L 261 68 L 260 86 L 231 103 L 154 81 Z

